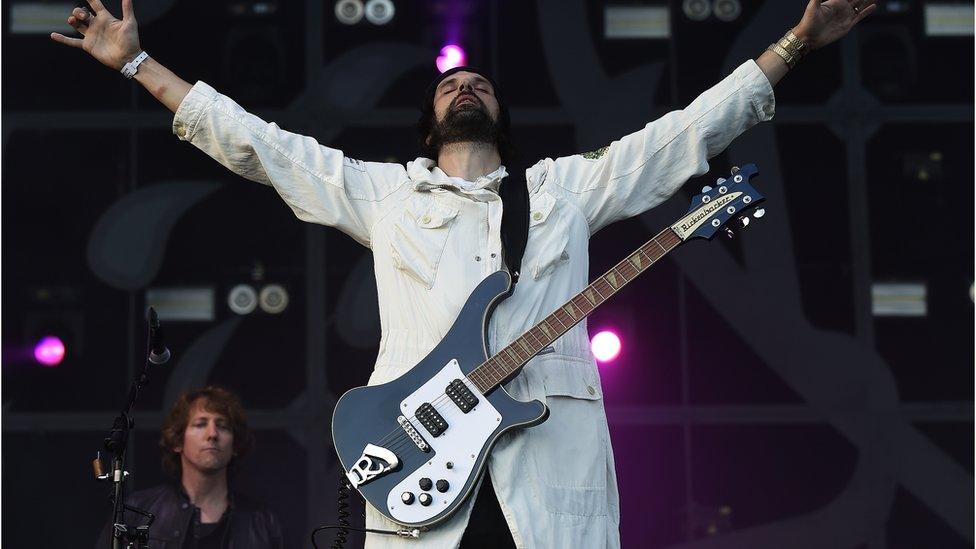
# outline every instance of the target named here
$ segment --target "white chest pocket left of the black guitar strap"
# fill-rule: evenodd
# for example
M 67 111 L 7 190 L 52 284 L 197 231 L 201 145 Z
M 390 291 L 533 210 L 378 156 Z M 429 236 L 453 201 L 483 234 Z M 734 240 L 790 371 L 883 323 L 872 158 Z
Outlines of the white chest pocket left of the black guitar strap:
M 457 214 L 429 199 L 415 200 L 393 224 L 393 265 L 431 289 Z

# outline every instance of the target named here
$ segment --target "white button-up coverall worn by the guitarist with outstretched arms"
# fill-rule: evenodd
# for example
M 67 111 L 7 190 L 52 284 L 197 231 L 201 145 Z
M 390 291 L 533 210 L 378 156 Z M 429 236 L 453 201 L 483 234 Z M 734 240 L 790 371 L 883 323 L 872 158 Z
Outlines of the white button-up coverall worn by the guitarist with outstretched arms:
M 546 158 L 528 169 L 522 276 L 492 317 L 492 348 L 507 345 L 588 284 L 590 235 L 664 201 L 773 112 L 772 87 L 750 60 L 687 108 L 604 149 Z M 504 167 L 462 190 L 426 158 L 406 166 L 353 160 L 247 113 L 203 82 L 183 100 L 173 131 L 237 174 L 274 186 L 300 219 L 336 227 L 372 250 L 382 339 L 370 384 L 419 362 L 471 290 L 504 268 L 495 192 Z M 516 545 L 618 547 L 613 452 L 585 322 L 532 359 L 507 388 L 551 410 L 541 425 L 502 437 L 488 462 Z M 370 535 L 366 546 L 457 547 L 471 504 L 419 541 Z M 372 509 L 367 525 L 395 528 Z

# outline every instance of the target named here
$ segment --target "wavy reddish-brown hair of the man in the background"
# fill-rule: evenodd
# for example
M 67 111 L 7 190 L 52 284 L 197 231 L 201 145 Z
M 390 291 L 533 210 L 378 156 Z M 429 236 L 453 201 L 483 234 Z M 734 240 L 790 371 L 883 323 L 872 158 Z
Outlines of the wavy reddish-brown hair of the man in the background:
M 234 433 L 234 457 L 231 458 L 228 468 L 233 467 L 237 460 L 254 448 L 254 434 L 247 426 L 244 406 L 236 394 L 216 385 L 184 391 L 166 416 L 159 438 L 163 470 L 176 479 L 183 474 L 183 463 L 179 452 L 174 448 L 183 446 L 183 436 L 190 424 L 190 410 L 198 401 L 203 401 L 205 410 L 225 416 L 230 423 L 231 432 Z

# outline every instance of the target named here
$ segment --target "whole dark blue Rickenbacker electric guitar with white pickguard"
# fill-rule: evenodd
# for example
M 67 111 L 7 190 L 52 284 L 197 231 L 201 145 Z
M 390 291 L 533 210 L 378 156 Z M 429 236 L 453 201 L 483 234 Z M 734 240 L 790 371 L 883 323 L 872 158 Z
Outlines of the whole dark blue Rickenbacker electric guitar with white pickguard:
M 377 511 L 412 528 L 447 520 L 477 486 L 502 434 L 549 417 L 538 401 L 515 400 L 502 384 L 665 254 L 711 239 L 765 199 L 750 184 L 754 164 L 705 187 L 688 213 L 489 358 L 488 320 L 512 291 L 498 271 L 471 292 L 443 340 L 403 376 L 347 391 L 336 403 L 332 439 L 351 485 Z M 763 210 L 754 211 L 761 217 Z

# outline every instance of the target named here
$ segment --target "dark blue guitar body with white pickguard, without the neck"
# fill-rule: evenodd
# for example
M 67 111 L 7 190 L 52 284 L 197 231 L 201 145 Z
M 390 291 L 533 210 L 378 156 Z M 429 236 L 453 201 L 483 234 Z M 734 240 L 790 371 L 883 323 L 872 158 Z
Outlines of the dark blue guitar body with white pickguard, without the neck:
M 426 358 L 389 383 L 346 392 L 336 404 L 332 437 L 339 460 L 363 497 L 391 520 L 413 527 L 445 520 L 474 490 L 500 435 L 549 417 L 545 404 L 515 400 L 504 387 L 485 396 L 462 381 L 470 394 L 455 397 L 461 399 L 460 406 L 446 394 L 452 382 L 456 386 L 458 380 L 466 380 L 488 360 L 488 320 L 510 289 L 507 272 L 489 275 Z M 464 388 L 458 389 L 464 392 Z M 416 417 L 424 404 L 431 404 L 439 416 L 427 416 L 433 432 Z M 401 423 L 408 418 L 408 424 L 415 425 L 415 434 Z M 445 425 L 443 432 L 433 436 L 439 425 Z M 393 459 L 380 450 L 372 454 L 364 450 L 367 444 L 389 451 Z M 396 464 L 391 466 L 391 461 Z

